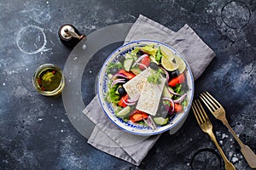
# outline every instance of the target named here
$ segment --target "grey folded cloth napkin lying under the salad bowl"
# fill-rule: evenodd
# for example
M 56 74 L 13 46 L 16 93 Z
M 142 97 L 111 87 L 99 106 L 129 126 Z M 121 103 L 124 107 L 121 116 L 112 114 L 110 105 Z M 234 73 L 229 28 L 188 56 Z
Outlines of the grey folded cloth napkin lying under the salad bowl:
M 165 42 L 176 48 L 188 61 L 195 79 L 201 76 L 215 56 L 212 49 L 188 25 L 174 32 L 154 20 L 140 15 L 131 27 L 125 42 L 141 39 Z M 121 130 L 102 111 L 97 97 L 92 99 L 90 104 L 86 106 L 84 114 L 96 124 L 88 143 L 99 150 L 135 165 L 139 165 L 143 161 L 148 150 L 152 148 L 160 137 L 160 134 L 147 137 Z

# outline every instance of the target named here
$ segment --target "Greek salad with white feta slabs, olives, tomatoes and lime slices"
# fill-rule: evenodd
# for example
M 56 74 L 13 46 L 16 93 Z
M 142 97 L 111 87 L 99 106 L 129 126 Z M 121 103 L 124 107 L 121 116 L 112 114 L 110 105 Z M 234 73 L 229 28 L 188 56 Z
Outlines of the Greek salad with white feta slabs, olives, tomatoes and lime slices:
M 125 122 L 165 126 L 188 105 L 186 71 L 183 59 L 166 46 L 138 45 L 108 65 L 105 100 Z

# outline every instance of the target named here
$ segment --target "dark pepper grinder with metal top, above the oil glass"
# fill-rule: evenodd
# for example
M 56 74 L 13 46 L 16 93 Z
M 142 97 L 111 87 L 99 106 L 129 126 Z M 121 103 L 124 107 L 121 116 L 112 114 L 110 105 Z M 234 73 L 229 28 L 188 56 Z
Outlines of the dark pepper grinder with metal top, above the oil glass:
M 61 26 L 58 34 L 61 42 L 69 48 L 75 47 L 79 41 L 86 38 L 85 35 L 80 34 L 78 29 L 70 24 Z

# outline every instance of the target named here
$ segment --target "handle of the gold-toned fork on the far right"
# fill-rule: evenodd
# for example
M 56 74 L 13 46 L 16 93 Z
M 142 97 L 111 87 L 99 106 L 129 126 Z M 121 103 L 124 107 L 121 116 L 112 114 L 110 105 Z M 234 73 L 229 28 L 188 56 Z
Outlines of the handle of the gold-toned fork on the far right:
M 256 168 L 256 155 L 254 154 L 253 150 L 251 150 L 251 148 L 249 146 L 247 146 L 246 144 L 243 144 L 241 142 L 241 139 L 238 138 L 238 136 L 236 135 L 234 130 L 230 127 L 230 124 L 227 120 L 224 120 L 223 123 L 226 127 L 228 127 L 228 129 L 232 133 L 233 137 L 236 139 L 236 141 L 240 145 L 241 153 L 244 156 L 244 158 L 246 159 L 248 165 L 252 168 Z

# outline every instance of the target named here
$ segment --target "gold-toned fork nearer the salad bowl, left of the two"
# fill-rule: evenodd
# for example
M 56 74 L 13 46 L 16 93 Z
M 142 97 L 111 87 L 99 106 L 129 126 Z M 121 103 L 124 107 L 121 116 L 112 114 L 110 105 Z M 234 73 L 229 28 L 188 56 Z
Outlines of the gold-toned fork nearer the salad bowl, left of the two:
M 195 114 L 196 121 L 198 122 L 198 124 L 201 127 L 202 131 L 207 133 L 210 136 L 210 138 L 212 139 L 212 142 L 216 145 L 220 155 L 223 157 L 224 163 L 225 163 L 225 169 L 227 169 L 227 170 L 234 170 L 234 169 L 236 169 L 234 167 L 234 165 L 225 156 L 223 150 L 219 146 L 219 144 L 217 142 L 217 139 L 216 139 L 214 133 L 212 132 L 212 122 L 208 118 L 207 113 L 203 109 L 203 107 L 201 106 L 201 103 L 200 103 L 199 100 L 195 100 L 195 102 L 193 102 L 192 110 L 193 110 L 193 112 Z

